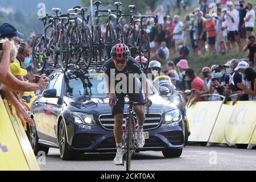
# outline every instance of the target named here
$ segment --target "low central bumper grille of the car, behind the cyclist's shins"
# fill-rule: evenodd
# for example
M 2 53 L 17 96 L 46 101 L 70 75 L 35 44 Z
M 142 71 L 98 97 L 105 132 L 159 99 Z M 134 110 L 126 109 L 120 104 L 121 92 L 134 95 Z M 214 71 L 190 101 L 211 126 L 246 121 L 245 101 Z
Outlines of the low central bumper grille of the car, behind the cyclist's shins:
M 143 147 L 165 147 L 165 143 L 157 137 L 149 137 L 149 139 L 145 139 L 145 145 Z M 116 148 L 115 138 L 111 137 L 103 140 L 103 142 L 98 146 L 98 149 L 102 148 Z

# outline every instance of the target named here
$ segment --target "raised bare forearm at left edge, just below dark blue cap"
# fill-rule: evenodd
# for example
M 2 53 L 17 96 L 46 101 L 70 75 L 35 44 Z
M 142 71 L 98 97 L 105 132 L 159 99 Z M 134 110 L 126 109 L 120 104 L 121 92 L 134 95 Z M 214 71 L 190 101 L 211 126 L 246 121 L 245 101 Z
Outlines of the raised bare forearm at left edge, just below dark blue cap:
M 7 71 L 9 69 L 9 64 L 10 64 L 10 52 L 11 52 L 11 43 L 9 40 L 6 40 L 5 43 L 2 45 L 3 49 L 3 55 L 2 55 L 2 60 L 0 62 L 0 78 L 5 78 Z

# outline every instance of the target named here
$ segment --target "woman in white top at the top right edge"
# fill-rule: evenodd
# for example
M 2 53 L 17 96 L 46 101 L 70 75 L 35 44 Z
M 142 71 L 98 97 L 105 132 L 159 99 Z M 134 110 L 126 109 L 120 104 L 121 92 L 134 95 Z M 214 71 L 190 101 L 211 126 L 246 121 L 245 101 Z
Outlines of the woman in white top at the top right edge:
M 254 28 L 254 21 L 255 21 L 255 11 L 253 10 L 253 4 L 251 2 L 247 2 L 247 13 L 245 15 L 245 28 L 246 28 L 246 35 L 247 37 L 251 35 L 251 32 Z

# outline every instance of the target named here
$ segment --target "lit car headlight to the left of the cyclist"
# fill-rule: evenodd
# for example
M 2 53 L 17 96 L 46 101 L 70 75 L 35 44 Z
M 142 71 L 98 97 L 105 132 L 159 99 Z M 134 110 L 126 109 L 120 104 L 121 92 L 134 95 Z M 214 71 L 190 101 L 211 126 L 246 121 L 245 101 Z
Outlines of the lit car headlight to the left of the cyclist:
M 73 119 L 73 121 L 77 123 L 91 125 L 91 126 L 96 125 L 92 114 L 72 112 L 71 118 Z

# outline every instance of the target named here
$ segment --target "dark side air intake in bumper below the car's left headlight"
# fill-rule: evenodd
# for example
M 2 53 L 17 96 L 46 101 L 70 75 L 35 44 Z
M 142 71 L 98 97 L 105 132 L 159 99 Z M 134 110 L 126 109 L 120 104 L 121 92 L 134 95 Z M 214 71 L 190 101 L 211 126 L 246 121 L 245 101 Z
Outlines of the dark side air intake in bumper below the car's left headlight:
M 97 134 L 76 134 L 72 140 L 72 146 L 75 148 L 86 148 L 95 142 L 95 139 L 102 135 Z

